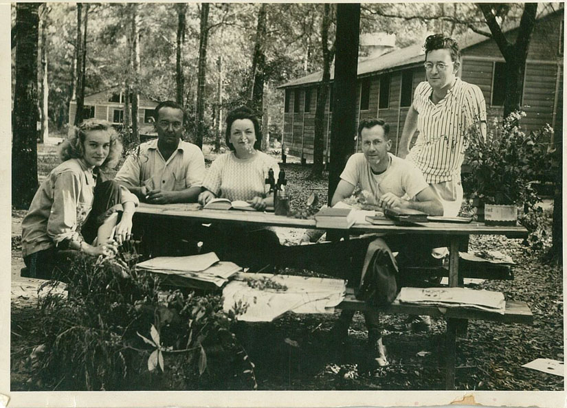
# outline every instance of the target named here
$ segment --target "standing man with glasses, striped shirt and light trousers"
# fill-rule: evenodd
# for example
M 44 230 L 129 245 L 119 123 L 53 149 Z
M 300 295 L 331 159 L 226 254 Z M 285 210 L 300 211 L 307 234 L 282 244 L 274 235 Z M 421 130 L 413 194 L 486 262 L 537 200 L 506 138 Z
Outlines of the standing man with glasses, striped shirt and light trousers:
M 453 38 L 428 36 L 423 47 L 427 82 L 415 89 L 398 155 L 421 170 L 441 197 L 444 215 L 457 216 L 463 201 L 460 166 L 467 133 L 475 129 L 486 136 L 486 102 L 479 87 L 456 77 L 460 51 Z M 409 150 L 416 130 L 419 135 Z

